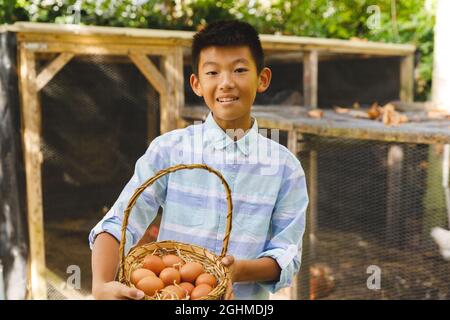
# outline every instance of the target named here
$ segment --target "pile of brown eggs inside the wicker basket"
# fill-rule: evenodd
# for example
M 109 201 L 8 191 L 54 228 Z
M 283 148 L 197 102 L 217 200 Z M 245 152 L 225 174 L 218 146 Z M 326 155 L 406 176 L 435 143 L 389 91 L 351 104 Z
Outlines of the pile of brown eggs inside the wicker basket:
M 147 255 L 141 268 L 131 274 L 131 282 L 147 296 L 161 299 L 196 300 L 207 296 L 217 279 L 198 262 L 185 262 L 174 254 Z

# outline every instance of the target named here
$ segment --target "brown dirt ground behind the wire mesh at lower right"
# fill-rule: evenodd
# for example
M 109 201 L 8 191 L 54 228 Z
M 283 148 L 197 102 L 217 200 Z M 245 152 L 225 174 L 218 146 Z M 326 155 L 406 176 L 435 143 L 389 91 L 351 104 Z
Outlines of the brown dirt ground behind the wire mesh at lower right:
M 323 299 L 450 299 L 450 262 L 437 246 L 386 247 L 358 234 L 328 230 L 317 234 L 316 261 L 325 263 L 335 279 Z M 367 273 L 380 269 L 380 289 L 370 290 Z

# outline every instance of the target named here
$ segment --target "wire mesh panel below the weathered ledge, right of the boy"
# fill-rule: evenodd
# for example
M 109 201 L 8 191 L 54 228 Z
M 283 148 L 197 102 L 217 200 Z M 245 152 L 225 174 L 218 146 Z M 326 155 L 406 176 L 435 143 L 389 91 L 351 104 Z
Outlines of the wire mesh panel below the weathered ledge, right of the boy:
M 317 185 L 303 258 L 311 295 L 449 299 L 450 263 L 430 235 L 448 227 L 442 145 L 308 138 L 299 157 Z

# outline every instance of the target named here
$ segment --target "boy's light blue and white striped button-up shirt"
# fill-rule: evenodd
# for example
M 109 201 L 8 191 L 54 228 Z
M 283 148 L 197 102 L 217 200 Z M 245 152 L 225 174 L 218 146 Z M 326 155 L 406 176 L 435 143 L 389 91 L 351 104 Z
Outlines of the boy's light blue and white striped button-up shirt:
M 299 160 L 284 146 L 264 136 L 256 119 L 234 141 L 210 113 L 204 123 L 163 134 L 136 162 L 135 172 L 104 218 L 92 229 L 89 242 L 101 232 L 120 240 L 123 212 L 134 191 L 156 172 L 177 164 L 203 163 L 222 173 L 233 200 L 228 255 L 235 259 L 274 258 L 279 281 L 235 283 L 236 299 L 267 299 L 289 286 L 300 269 L 305 212 L 305 174 Z M 220 254 L 226 226 L 226 194 L 220 180 L 201 169 L 180 170 L 147 188 L 133 207 L 126 252 L 144 234 L 163 208 L 158 241 L 174 240 Z

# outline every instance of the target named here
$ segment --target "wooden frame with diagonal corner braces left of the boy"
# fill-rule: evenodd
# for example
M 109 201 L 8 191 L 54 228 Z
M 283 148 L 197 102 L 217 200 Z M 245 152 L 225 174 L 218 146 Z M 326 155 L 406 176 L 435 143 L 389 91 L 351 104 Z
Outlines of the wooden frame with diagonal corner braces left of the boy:
M 118 39 L 89 36 L 54 37 L 39 33 L 19 33 L 19 81 L 21 95 L 22 142 L 24 149 L 27 211 L 30 239 L 29 293 L 32 299 L 46 299 L 48 275 L 45 263 L 41 165 L 41 108 L 39 91 L 76 55 L 124 55 L 135 64 L 159 93 L 161 133 L 177 128 L 179 110 L 184 104 L 183 52 L 178 47 L 120 43 Z M 124 41 L 122 41 L 124 42 Z M 126 42 L 126 41 L 125 41 Z M 36 74 L 36 55 L 58 56 Z M 162 57 L 162 72 L 147 55 Z M 175 112 L 173 112 L 175 109 Z

